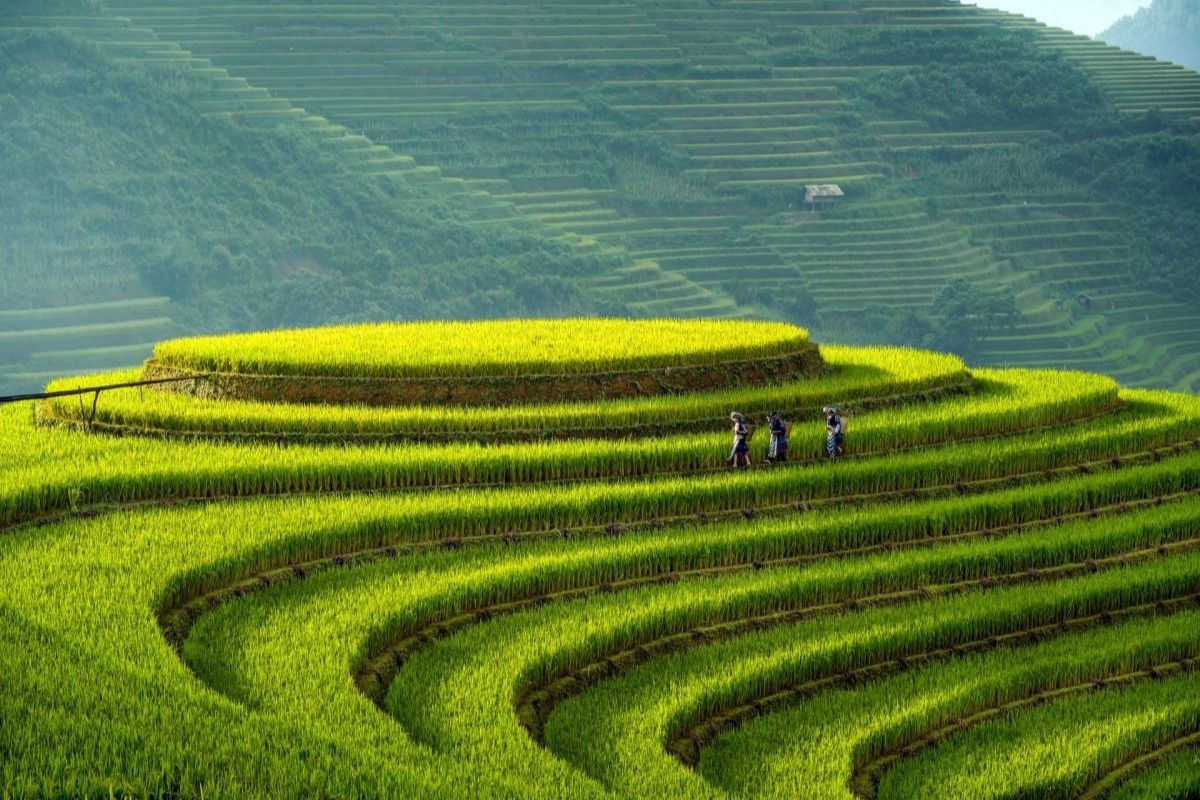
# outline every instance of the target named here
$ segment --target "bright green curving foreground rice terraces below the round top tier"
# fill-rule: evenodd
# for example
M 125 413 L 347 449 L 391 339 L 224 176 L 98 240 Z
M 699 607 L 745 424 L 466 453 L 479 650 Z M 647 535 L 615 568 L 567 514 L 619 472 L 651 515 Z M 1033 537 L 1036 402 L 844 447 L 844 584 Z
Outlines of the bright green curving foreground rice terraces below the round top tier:
M 680 366 L 731 337 L 694 325 Z M 304 338 L 361 361 L 337 336 Z M 1200 399 L 820 350 L 617 401 L 4 408 L 0 788 L 1200 792 Z M 791 461 L 724 468 L 733 408 Z

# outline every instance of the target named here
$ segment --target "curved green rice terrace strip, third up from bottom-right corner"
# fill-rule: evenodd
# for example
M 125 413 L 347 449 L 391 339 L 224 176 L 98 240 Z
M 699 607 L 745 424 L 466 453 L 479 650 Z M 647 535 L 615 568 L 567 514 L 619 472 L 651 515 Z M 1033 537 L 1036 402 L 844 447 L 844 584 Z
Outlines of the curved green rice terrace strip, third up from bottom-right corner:
M 871 796 L 874 776 L 864 768 L 881 756 L 931 734 L 953 735 L 955 726 L 978 724 L 1004 706 L 1091 692 L 1096 681 L 1195 658 L 1198 622 L 1196 612 L 1136 620 L 820 694 L 719 738 L 698 769 L 714 786 L 743 798 L 796 796 L 802 787 L 830 800 Z

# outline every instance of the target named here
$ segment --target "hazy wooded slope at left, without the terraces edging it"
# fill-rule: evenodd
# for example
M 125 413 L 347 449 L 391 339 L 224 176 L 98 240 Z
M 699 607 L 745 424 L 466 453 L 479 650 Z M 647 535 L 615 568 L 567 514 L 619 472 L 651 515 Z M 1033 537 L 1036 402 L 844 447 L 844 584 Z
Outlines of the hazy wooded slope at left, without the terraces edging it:
M 562 278 L 598 269 L 479 224 L 479 209 L 436 181 L 372 180 L 352 168 L 353 149 L 300 126 L 203 114 L 214 82 L 188 71 L 31 32 L 0 43 L 0 72 L 12 305 L 140 289 L 208 327 L 554 313 L 580 303 Z M 410 160 L 380 161 L 402 172 Z

